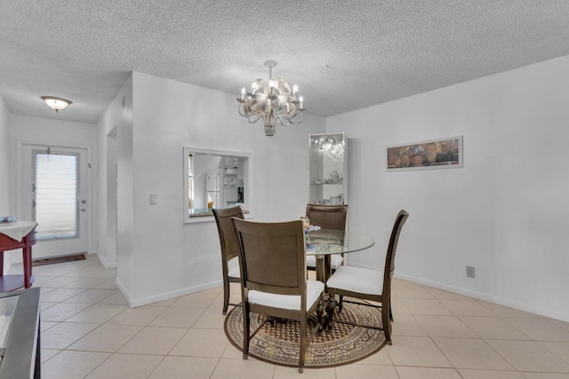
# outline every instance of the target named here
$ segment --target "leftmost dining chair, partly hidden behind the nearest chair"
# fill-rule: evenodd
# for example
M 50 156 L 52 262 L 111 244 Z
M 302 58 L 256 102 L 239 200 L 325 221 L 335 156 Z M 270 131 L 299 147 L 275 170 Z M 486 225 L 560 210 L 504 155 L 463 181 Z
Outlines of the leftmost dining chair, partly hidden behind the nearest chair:
M 238 263 L 239 241 L 237 241 L 231 217 L 243 219 L 243 209 L 238 206 L 227 209 L 212 209 L 212 213 L 217 224 L 217 231 L 220 234 L 221 271 L 223 272 L 223 314 L 227 314 L 229 305 L 239 305 L 229 303 L 229 283 L 241 282 Z

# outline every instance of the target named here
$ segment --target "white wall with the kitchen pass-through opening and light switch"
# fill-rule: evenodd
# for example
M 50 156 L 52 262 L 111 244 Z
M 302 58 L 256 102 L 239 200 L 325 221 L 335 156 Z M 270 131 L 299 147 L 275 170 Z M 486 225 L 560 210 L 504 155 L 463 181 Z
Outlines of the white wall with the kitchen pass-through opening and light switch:
M 112 124 L 100 127 L 110 130 Z M 128 128 L 117 129 L 117 283 L 136 306 L 220 285 L 220 242 L 212 217 L 197 224 L 184 224 L 181 217 L 183 146 L 251 152 L 254 217 L 296 219 L 309 195 L 309 133 L 323 132 L 325 120 L 307 115 L 300 125 L 278 127 L 267 138 L 262 123 L 250 125 L 237 114 L 236 96 L 135 72 L 132 150 L 121 142 L 121 136 L 130 138 L 121 131 Z M 157 205 L 149 205 L 150 193 L 157 194 Z

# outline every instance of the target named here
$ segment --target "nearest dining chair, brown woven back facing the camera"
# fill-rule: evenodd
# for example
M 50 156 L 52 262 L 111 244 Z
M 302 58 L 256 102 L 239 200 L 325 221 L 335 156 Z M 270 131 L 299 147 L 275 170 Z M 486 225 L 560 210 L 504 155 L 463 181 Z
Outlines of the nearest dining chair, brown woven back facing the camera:
M 300 324 L 299 372 L 310 341 L 308 319 L 315 312 L 324 283 L 307 280 L 306 251 L 301 220 L 260 223 L 234 217 L 240 247 L 241 303 L 243 310 L 243 359 L 249 354 L 253 336 L 274 318 L 296 320 Z M 250 330 L 250 313 L 267 316 L 259 328 Z

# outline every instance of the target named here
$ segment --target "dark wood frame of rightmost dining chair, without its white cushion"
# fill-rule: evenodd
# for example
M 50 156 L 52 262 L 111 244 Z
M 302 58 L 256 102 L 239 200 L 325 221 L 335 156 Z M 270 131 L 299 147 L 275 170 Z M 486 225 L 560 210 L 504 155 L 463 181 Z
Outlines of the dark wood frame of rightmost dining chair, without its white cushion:
M 403 225 L 405 225 L 405 222 L 407 221 L 408 217 L 409 213 L 407 213 L 403 209 L 400 210 L 399 213 L 397 214 L 395 224 L 393 225 L 393 230 L 391 231 L 391 237 L 389 238 L 388 251 L 385 257 L 385 267 L 383 270 L 383 288 L 381 290 L 381 295 L 352 292 L 345 289 L 333 288 L 328 286 L 328 291 L 330 291 L 330 293 L 335 295 L 355 297 L 361 300 L 370 300 L 373 302 L 381 303 L 381 305 L 374 305 L 370 303 L 353 302 L 344 299 L 345 303 L 362 304 L 366 306 L 372 306 L 374 308 L 381 308 L 382 328 L 351 323 L 341 320 L 337 320 L 336 322 L 356 325 L 357 327 L 383 330 L 385 334 L 385 340 L 389 345 L 391 344 L 391 322 L 393 321 L 393 313 L 391 312 L 391 278 L 393 277 L 393 272 L 395 271 L 395 255 L 397 251 L 397 242 L 399 241 L 399 235 L 401 233 L 401 229 L 403 228 Z M 339 312 L 341 312 L 341 310 L 339 310 Z

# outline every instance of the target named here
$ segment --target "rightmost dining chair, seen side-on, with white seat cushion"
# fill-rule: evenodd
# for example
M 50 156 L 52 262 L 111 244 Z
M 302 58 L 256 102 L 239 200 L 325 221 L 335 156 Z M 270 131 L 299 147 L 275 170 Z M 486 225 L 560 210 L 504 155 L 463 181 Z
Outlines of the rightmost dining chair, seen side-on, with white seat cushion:
M 397 241 L 399 241 L 401 228 L 405 225 L 408 217 L 409 214 L 405 212 L 405 210 L 400 210 L 397 214 L 393 230 L 391 231 L 391 237 L 389 238 L 389 246 L 385 257 L 383 275 L 381 275 L 381 271 L 377 270 L 342 265 L 341 267 L 338 267 L 336 272 L 334 272 L 330 279 L 326 281 L 328 291 L 333 295 L 356 297 L 360 300 L 370 300 L 381 303 L 381 305 L 374 305 L 370 303 L 353 302 L 346 300 L 345 297 L 343 300 L 344 303 L 355 303 L 381 308 L 382 328 L 351 323 L 348 321 L 337 322 L 349 323 L 357 325 L 358 327 L 383 330 L 385 340 L 388 344 L 391 344 L 391 321 L 393 321 L 393 314 L 391 313 L 391 277 L 395 271 Z M 339 309 L 339 312 L 341 312 L 341 309 Z

